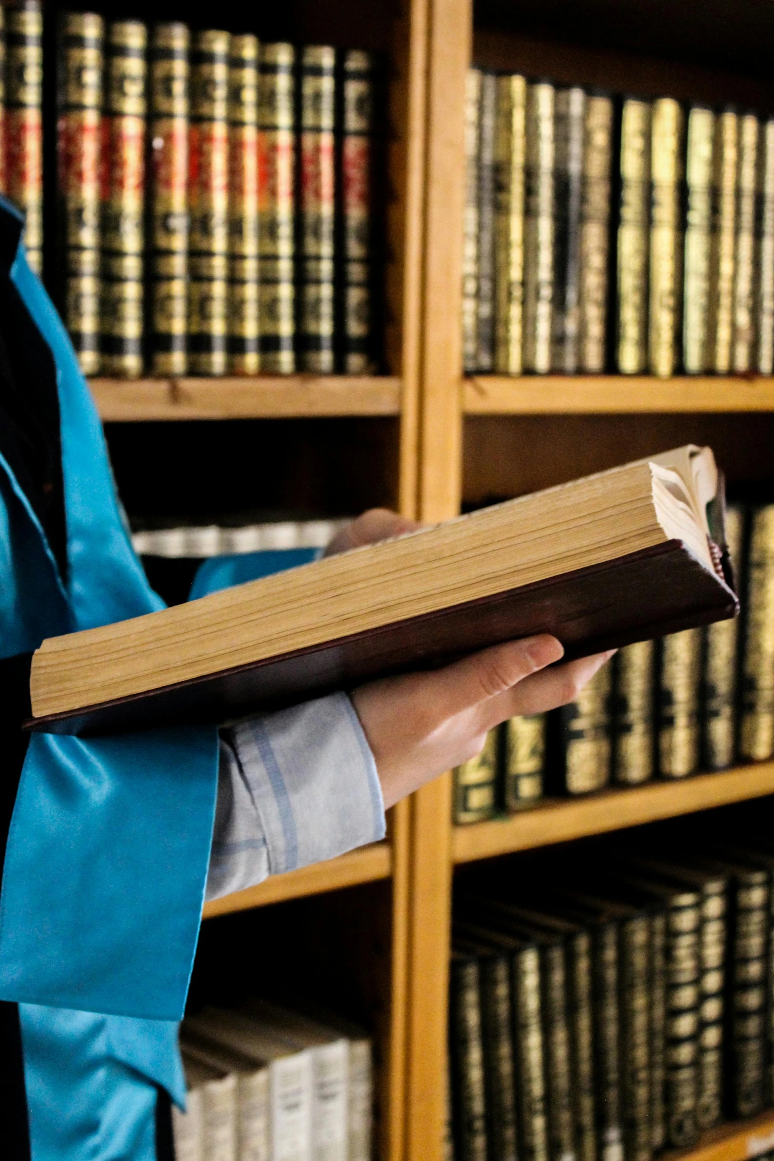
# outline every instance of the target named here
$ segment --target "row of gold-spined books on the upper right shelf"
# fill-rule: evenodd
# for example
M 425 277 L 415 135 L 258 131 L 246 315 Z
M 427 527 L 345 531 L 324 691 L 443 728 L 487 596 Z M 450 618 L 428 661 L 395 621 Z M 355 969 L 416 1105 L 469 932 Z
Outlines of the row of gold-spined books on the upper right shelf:
M 774 120 L 473 68 L 468 374 L 771 375 Z

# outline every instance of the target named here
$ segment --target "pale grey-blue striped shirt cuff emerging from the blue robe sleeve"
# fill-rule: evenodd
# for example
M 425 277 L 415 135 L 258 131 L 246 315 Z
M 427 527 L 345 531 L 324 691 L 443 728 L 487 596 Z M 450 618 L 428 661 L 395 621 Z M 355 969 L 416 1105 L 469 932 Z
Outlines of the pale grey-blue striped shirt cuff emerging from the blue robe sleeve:
M 384 834 L 376 763 L 346 693 L 220 731 L 208 900 Z

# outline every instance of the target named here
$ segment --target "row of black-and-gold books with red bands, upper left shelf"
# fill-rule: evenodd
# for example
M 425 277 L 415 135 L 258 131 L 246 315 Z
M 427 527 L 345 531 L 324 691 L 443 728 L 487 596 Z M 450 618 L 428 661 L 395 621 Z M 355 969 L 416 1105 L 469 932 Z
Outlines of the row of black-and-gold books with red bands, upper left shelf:
M 46 276 L 86 374 L 375 369 L 371 53 L 64 13 L 49 127 L 39 0 L 3 12 L 0 189 L 39 272 L 56 132 Z

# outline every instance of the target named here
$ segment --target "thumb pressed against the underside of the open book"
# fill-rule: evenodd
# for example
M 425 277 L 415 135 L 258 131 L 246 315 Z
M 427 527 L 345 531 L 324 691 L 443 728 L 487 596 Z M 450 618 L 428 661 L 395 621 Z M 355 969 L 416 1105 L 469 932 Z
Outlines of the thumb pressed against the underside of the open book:
M 563 655 L 562 643 L 548 633 L 483 649 L 436 670 L 436 708 L 443 717 L 451 717 L 505 693 Z

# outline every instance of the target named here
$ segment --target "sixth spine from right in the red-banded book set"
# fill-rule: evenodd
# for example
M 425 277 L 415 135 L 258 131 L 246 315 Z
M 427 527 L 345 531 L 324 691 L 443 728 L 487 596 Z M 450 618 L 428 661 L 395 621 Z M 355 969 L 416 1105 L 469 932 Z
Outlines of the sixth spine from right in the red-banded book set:
M 185 375 L 188 330 L 188 28 L 155 24 L 150 64 L 150 367 Z

